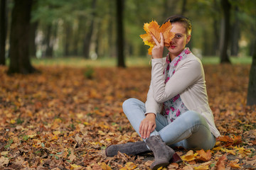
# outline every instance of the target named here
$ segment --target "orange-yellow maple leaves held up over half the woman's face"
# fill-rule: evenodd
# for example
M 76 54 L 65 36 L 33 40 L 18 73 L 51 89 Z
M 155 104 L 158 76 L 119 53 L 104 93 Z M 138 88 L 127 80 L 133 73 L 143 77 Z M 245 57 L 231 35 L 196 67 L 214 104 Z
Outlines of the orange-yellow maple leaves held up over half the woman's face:
M 151 23 L 144 23 L 144 30 L 146 33 L 139 36 L 142 38 L 144 45 L 149 45 L 149 55 L 152 55 L 152 48 L 154 45 L 156 45 L 151 35 L 154 35 L 156 40 L 160 42 L 160 33 L 162 33 L 164 35 L 164 45 L 168 47 L 170 45 L 171 39 L 174 38 L 174 33 L 170 32 L 171 28 L 172 26 L 170 22 L 164 23 L 161 27 L 156 21 L 151 21 Z

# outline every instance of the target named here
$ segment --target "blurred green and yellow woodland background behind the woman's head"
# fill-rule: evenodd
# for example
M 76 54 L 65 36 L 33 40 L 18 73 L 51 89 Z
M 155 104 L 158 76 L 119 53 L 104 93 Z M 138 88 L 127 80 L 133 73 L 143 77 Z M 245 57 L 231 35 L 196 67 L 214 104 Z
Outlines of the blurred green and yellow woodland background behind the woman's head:
M 119 18 L 123 23 L 123 40 L 119 42 L 118 1 L 31 1 L 28 43 L 30 57 L 80 56 L 93 60 L 99 57 L 117 57 L 122 55 L 117 50 L 121 42 L 124 43 L 123 56 L 119 60 L 124 56 L 143 57 L 147 53 L 147 47 L 139 38 L 144 33 L 143 24 L 152 20 L 163 23 L 176 13 L 191 19 L 193 31 L 188 46 L 198 57 L 218 56 L 221 62 L 228 62 L 230 55 L 243 57 L 252 55 L 255 50 L 255 1 L 119 1 L 123 4 L 123 16 Z M 15 2 L 1 0 L 1 64 L 5 64 L 4 59 L 11 55 L 10 30 L 14 17 L 11 11 Z M 3 49 L 6 50 L 5 54 Z

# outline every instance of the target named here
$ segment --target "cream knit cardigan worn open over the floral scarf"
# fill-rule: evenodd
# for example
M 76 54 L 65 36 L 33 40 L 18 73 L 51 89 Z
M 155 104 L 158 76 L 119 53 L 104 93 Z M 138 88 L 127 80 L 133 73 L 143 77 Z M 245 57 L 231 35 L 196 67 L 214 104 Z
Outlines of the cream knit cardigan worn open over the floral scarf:
M 201 60 L 192 53 L 188 54 L 185 59 L 178 62 L 175 74 L 166 84 L 164 84 L 163 74 L 165 67 L 166 57 L 152 59 L 151 84 L 145 103 L 146 113 L 161 113 L 162 103 L 180 94 L 186 108 L 189 111 L 196 111 L 203 115 L 209 125 L 210 132 L 215 137 L 220 136 L 208 104 L 206 81 Z

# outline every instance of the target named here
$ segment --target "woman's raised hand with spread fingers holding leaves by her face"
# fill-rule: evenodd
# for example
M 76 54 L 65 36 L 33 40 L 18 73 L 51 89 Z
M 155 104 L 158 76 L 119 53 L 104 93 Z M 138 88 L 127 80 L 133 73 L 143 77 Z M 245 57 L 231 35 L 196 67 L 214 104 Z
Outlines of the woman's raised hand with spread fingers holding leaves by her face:
M 156 40 L 154 35 L 151 35 L 151 36 L 152 36 L 154 42 L 156 43 L 156 45 L 154 45 L 154 47 L 152 49 L 152 57 L 154 59 L 162 58 L 163 52 L 164 52 L 164 35 L 162 33 L 160 33 L 160 42 L 158 42 L 158 40 Z

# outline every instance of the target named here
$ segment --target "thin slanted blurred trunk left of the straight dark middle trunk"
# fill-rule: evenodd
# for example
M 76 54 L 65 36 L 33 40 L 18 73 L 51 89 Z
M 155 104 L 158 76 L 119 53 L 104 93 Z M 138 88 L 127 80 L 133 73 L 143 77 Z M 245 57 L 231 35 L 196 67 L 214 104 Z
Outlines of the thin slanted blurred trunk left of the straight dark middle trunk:
M 95 12 L 95 7 L 96 7 L 96 0 L 92 0 L 92 16 L 90 17 L 91 22 L 89 26 L 89 31 L 85 35 L 85 40 L 84 40 L 84 57 L 89 58 L 90 56 L 90 43 L 92 40 L 92 31 L 93 31 L 93 23 L 94 23 L 94 18 L 96 15 Z

